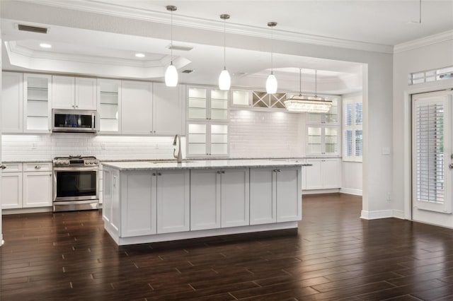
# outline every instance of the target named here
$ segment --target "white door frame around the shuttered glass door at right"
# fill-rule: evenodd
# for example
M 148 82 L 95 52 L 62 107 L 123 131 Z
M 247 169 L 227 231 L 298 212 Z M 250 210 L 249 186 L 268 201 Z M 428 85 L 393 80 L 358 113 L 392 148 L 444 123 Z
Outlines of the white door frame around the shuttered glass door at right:
M 453 80 L 435 81 L 403 91 L 403 196 L 404 219 L 412 219 L 412 95 L 453 89 Z

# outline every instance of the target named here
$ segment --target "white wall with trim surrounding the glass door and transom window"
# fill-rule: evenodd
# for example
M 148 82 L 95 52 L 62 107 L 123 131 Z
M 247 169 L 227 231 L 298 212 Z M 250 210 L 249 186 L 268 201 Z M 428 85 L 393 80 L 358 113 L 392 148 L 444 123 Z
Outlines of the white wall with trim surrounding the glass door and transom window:
M 408 85 L 408 74 L 453 66 L 453 31 L 396 47 L 393 93 L 392 208 L 396 216 L 411 218 L 411 112 L 413 93 L 453 88 L 453 80 Z

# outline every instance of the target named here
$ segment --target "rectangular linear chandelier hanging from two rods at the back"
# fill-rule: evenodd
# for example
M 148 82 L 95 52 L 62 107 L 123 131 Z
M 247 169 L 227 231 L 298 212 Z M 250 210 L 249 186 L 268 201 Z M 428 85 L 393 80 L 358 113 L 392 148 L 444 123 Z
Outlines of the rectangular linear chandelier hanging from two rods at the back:
M 299 69 L 299 95 L 285 100 L 289 112 L 327 113 L 331 110 L 332 100 L 318 96 L 317 72 L 314 71 L 314 96 L 302 95 L 302 69 Z

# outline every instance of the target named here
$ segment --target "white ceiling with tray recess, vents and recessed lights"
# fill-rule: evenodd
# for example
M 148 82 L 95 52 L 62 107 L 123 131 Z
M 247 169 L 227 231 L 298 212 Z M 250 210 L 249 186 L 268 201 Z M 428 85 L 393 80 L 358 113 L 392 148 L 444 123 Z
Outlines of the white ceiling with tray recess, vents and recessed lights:
M 1 31 L 4 69 L 74 73 L 88 76 L 152 79 L 162 81 L 170 61 L 170 13 L 173 13 L 174 45 L 193 48 L 173 52 L 173 63 L 184 83 L 215 85 L 223 67 L 224 23 L 226 21 L 226 66 L 232 85 L 264 85 L 270 69 L 270 47 L 259 51 L 229 47 L 232 35 L 336 45 L 350 49 L 391 53 L 393 46 L 453 29 L 453 0 L 422 1 L 125 1 L 125 0 L 2 0 Z M 97 13 L 115 28 L 129 20 L 151 22 L 154 30 L 102 28 L 103 18 L 85 18 Z M 270 30 L 268 21 L 277 22 Z M 108 23 L 105 21 L 105 23 Z M 17 24 L 50 28 L 47 35 L 17 30 Z M 127 23 L 126 23 L 127 24 Z M 151 26 L 150 26 L 151 28 Z M 212 43 L 190 42 L 185 29 L 210 30 L 217 37 Z M 127 30 L 128 29 L 128 30 Z M 145 28 L 146 29 L 146 28 Z M 123 31 L 124 33 L 122 33 Z M 40 42 L 52 45 L 42 49 Z M 277 48 L 277 47 L 276 47 Z M 144 58 L 134 54 L 142 52 Z M 280 87 L 298 90 L 299 68 L 303 69 L 302 90 L 314 90 L 314 70 L 319 70 L 319 91 L 350 93 L 361 89 L 361 65 L 274 53 L 275 75 Z

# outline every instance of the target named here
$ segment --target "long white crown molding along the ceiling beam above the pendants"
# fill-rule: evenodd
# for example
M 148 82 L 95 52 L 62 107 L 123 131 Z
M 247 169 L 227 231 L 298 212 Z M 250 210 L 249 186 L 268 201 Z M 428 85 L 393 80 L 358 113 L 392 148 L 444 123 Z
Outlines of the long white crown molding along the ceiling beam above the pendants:
M 27 3 L 30 3 L 30 1 L 27 1 Z M 133 8 L 130 6 L 120 5 L 115 1 L 105 3 L 101 1 L 40 0 L 36 1 L 35 4 L 73 9 L 77 11 L 86 11 L 89 13 L 100 13 L 108 16 L 146 20 L 156 23 L 171 23 L 170 15 L 166 11 L 152 11 Z M 182 16 L 178 15 L 177 13 L 173 13 L 173 25 L 202 30 L 212 30 L 220 33 L 223 33 L 224 31 L 223 22 L 221 21 Z M 257 26 L 229 23 L 228 28 L 226 29 L 226 33 L 246 35 L 249 37 L 270 38 L 270 31 L 268 30 L 268 28 L 265 28 L 264 25 L 263 28 L 260 28 Z M 386 54 L 392 54 L 394 52 L 394 47 L 391 45 L 380 45 L 369 42 L 343 40 L 335 37 L 323 37 L 319 35 L 307 35 L 304 33 L 294 33 L 285 30 L 273 30 L 273 39 L 327 47 L 356 49 L 368 52 L 382 52 Z

